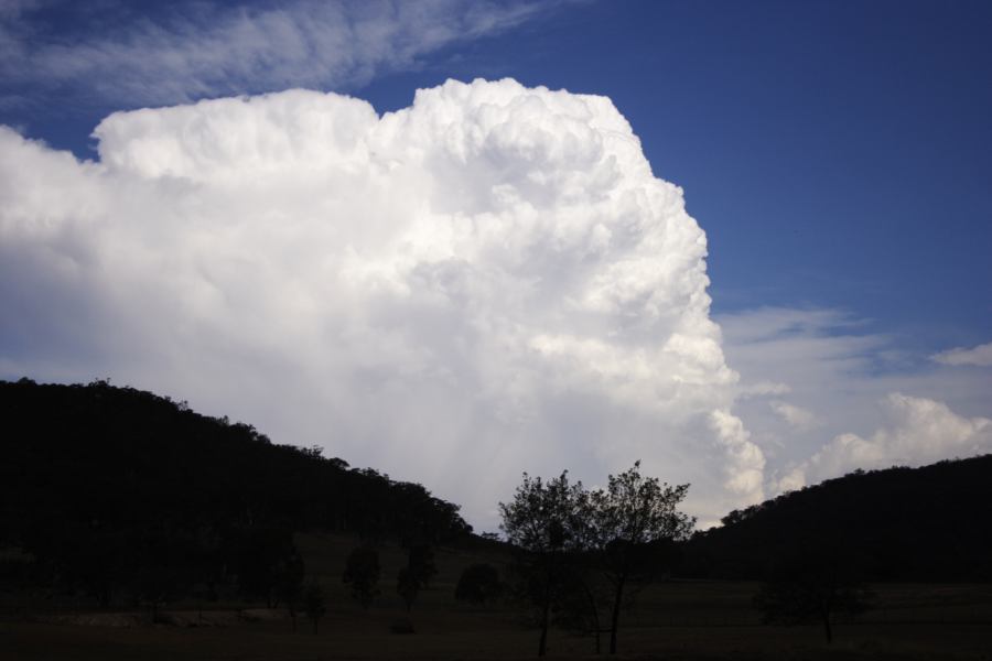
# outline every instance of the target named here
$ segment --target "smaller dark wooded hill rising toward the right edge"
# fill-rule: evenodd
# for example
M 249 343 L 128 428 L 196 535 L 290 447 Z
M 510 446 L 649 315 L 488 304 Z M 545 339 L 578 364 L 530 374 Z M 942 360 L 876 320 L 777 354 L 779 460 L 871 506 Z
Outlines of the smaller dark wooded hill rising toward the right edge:
M 724 517 L 686 548 L 686 573 L 756 578 L 795 552 L 873 581 L 992 579 L 992 455 L 855 472 Z

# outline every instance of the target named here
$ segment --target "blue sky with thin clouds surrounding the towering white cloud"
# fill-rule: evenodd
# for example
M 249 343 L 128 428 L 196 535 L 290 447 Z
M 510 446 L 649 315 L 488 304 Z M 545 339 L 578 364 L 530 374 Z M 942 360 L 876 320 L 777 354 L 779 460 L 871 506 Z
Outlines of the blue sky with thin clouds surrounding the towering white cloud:
M 864 444 L 856 456 L 869 465 L 990 443 L 992 4 L 163 7 L 0 0 L 0 123 L 87 160 L 98 158 L 95 127 L 112 112 L 294 87 L 365 99 L 379 113 L 449 78 L 602 95 L 707 234 L 712 318 L 741 375 L 732 403 L 718 408 L 763 453 L 765 495 L 801 484 L 800 474 L 853 467 L 853 455 L 838 458 L 852 447 L 845 434 Z M 15 294 L 57 290 L 33 282 Z M 12 325 L 0 334 L 0 376 L 192 388 L 97 358 L 55 369 L 66 342 L 31 353 L 28 335 Z M 254 422 L 256 409 L 230 393 L 188 398 Z M 277 432 L 280 420 L 271 418 Z M 917 437 L 921 420 L 960 433 Z M 445 488 L 459 496 L 456 484 Z

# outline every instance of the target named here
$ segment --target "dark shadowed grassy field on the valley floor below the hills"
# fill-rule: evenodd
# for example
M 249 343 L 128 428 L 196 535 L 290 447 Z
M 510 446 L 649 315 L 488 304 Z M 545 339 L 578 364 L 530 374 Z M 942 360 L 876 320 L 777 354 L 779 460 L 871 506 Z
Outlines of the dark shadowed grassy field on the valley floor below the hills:
M 328 592 L 328 613 L 314 635 L 301 618 L 293 631 L 284 610 L 258 605 L 171 604 L 172 625 L 151 625 L 142 613 L 98 613 L 48 604 L 36 616 L 0 621 L 0 660 L 320 660 L 320 659 L 528 659 L 537 631 L 507 606 L 470 608 L 453 598 L 466 565 L 505 557 L 441 550 L 440 573 L 408 616 L 395 594 L 403 563 L 395 546 L 380 549 L 381 595 L 363 610 L 341 584 L 355 540 L 304 535 L 298 543 L 308 573 Z M 650 586 L 625 614 L 624 659 L 985 659 L 992 660 L 992 586 L 878 585 L 876 607 L 841 622 L 827 646 L 819 627 L 767 627 L 751 605 L 755 584 L 667 582 Z M 399 621 L 414 633 L 393 633 Z M 549 657 L 593 657 L 593 641 L 553 631 Z

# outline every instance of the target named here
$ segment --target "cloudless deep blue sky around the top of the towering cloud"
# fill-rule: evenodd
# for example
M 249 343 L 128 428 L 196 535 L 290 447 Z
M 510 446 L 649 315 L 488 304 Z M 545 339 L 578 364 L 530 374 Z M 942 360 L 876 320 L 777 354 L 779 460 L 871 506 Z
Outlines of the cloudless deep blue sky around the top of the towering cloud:
M 123 7 L 31 21 L 72 43 L 164 20 Z M 707 230 L 716 314 L 838 307 L 925 354 L 992 338 L 990 34 L 990 2 L 587 2 L 326 88 L 380 111 L 449 77 L 606 95 Z M 80 158 L 128 107 L 3 87 L 26 102 L 0 121 Z

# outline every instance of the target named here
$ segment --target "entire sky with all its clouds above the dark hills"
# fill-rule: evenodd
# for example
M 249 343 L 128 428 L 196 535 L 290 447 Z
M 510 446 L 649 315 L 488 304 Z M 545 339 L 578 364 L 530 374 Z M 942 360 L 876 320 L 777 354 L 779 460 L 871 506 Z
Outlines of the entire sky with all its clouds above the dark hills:
M 990 33 L 0 0 L 0 378 L 186 399 L 483 529 L 521 470 L 641 458 L 712 522 L 992 452 Z

